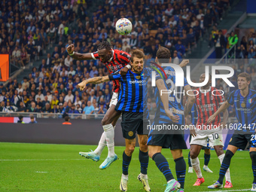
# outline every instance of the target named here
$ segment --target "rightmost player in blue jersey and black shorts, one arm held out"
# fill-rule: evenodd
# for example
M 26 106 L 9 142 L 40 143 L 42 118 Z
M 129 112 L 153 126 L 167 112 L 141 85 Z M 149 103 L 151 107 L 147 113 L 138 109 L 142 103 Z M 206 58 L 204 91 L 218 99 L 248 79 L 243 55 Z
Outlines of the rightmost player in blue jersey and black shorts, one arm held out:
M 244 150 L 249 143 L 251 168 L 254 175 L 254 181 L 252 182 L 251 191 L 256 191 L 256 91 L 249 89 L 251 77 L 248 73 L 242 72 L 238 75 L 237 84 L 239 90 L 234 90 L 230 93 L 227 101 L 209 117 L 209 122 L 215 119 L 215 117 L 227 109 L 230 105 L 234 105 L 236 110 L 236 118 L 239 123 L 233 124 L 233 133 L 230 143 L 227 146 L 227 151 L 223 162 L 221 163 L 221 169 L 219 172 L 218 181 L 215 184 L 210 185 L 208 188 L 222 188 L 224 175 L 230 166 L 230 161 L 237 149 Z

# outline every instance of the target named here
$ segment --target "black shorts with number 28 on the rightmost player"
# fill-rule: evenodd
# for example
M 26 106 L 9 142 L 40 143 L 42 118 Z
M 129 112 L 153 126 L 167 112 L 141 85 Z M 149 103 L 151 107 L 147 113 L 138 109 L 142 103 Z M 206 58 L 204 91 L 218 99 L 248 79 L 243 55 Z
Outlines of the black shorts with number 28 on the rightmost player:
M 256 148 L 256 134 L 245 134 L 236 131 L 231 137 L 228 145 L 233 145 L 237 148 L 245 150 L 248 143 L 248 148 Z

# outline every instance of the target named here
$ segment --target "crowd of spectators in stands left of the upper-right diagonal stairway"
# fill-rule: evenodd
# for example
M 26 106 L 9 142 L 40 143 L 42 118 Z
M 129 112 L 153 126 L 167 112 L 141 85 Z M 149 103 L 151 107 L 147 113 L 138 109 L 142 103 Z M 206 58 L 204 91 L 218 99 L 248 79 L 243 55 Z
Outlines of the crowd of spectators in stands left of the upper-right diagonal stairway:
M 111 82 L 90 85 L 84 92 L 78 83 L 107 75 L 99 60 L 79 61 L 66 53 L 94 52 L 100 41 L 130 53 L 143 49 L 147 58 L 156 56 L 159 46 L 168 47 L 172 58 L 185 56 L 211 26 L 222 19 L 232 0 L 107 0 L 89 17 L 93 1 L 3 0 L 0 2 L 0 53 L 25 66 L 43 55 L 22 82 L 0 85 L 0 111 L 29 111 L 61 114 L 104 114 L 111 99 Z M 133 23 L 130 35 L 119 35 L 115 23 L 126 17 Z M 57 45 L 56 45 L 57 44 Z M 53 53 L 47 47 L 55 46 Z M 152 101 L 153 103 L 154 101 Z

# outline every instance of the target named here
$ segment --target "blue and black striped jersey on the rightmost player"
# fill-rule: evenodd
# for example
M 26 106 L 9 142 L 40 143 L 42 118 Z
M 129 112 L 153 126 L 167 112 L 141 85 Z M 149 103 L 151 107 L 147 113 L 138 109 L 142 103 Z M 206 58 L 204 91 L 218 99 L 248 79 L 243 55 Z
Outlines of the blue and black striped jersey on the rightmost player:
M 237 130 L 253 132 L 256 123 L 256 91 L 250 90 L 248 95 L 243 97 L 240 90 L 233 90 L 227 99 L 230 105 L 236 109 L 236 118 L 239 122 Z

